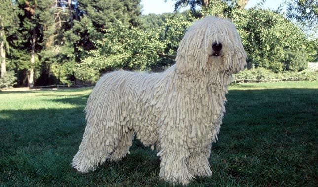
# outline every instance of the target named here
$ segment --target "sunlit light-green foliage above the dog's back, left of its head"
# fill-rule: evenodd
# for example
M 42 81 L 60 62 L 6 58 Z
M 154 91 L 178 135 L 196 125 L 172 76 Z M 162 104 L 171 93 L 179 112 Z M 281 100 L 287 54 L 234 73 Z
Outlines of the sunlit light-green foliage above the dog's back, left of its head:
M 142 17 L 141 28 L 127 28 L 114 22 L 104 30 L 103 40 L 94 42 L 96 49 L 76 64 L 76 77 L 96 81 L 100 73 L 113 69 L 162 71 L 174 63 L 167 56 L 176 55 L 191 18 L 187 13 L 150 15 L 150 18 Z

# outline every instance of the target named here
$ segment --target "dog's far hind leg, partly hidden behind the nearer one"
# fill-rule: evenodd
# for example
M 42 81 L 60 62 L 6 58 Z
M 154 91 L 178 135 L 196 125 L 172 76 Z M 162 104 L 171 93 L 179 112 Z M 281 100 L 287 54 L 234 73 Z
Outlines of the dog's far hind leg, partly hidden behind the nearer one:
M 121 137 L 119 137 L 118 146 L 115 148 L 114 152 L 110 155 L 109 160 L 119 161 L 127 154 L 130 154 L 129 148 L 133 144 L 134 131 L 123 127 L 125 131 Z

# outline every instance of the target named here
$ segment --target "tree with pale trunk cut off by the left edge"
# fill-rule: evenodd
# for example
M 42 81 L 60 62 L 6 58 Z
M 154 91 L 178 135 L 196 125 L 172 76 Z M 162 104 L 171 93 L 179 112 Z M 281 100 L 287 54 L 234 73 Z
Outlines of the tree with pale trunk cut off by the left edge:
M 3 78 L 6 73 L 6 53 L 10 52 L 7 38 L 17 29 L 17 15 L 11 0 L 1 0 L 0 4 L 0 60 Z

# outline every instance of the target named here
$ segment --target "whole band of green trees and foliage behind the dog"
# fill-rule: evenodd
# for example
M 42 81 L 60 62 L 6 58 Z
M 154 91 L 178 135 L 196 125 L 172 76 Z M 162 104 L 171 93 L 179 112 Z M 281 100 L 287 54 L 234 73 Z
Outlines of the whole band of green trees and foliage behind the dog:
M 317 0 L 290 1 L 287 13 L 244 9 L 247 2 L 175 0 L 174 13 L 141 15 L 141 0 L 2 0 L 0 82 L 75 84 L 115 69 L 162 71 L 186 28 L 205 15 L 234 22 L 248 67 L 299 72 L 317 61 Z M 183 6 L 190 10 L 178 12 Z

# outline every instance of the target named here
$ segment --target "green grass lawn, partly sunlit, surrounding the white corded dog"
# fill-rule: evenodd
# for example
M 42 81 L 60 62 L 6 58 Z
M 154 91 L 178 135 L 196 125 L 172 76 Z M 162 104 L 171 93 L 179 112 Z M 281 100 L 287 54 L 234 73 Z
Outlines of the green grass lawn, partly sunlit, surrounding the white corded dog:
M 71 167 L 90 91 L 0 92 L 0 186 L 169 186 L 139 141 L 95 172 Z M 318 186 L 318 82 L 235 84 L 227 98 L 213 175 L 189 186 Z

